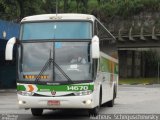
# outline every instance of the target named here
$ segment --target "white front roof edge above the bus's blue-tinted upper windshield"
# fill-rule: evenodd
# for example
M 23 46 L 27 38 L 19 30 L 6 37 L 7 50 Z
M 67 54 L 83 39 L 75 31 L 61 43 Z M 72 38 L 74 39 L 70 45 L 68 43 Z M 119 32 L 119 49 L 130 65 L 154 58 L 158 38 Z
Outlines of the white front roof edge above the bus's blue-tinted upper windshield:
M 94 21 L 96 18 L 89 14 L 41 14 L 28 16 L 22 19 L 21 22 L 31 21 L 54 21 L 54 20 L 91 20 Z

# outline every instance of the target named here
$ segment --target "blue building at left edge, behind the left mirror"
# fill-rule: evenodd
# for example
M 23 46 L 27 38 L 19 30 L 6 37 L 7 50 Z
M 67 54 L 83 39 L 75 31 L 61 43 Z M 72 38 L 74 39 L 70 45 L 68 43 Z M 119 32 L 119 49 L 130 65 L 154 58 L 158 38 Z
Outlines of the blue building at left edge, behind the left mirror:
M 5 46 L 11 37 L 19 35 L 20 25 L 0 20 L 0 88 L 15 87 L 16 63 L 5 61 Z

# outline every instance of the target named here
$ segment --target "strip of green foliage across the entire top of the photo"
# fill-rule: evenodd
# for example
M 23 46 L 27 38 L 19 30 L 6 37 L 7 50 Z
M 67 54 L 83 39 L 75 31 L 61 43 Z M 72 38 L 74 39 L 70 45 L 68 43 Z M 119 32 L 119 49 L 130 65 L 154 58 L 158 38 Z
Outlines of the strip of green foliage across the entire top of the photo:
M 18 20 L 28 15 L 93 11 L 106 21 L 120 16 L 127 18 L 141 12 L 160 12 L 160 0 L 0 0 L 1 19 Z

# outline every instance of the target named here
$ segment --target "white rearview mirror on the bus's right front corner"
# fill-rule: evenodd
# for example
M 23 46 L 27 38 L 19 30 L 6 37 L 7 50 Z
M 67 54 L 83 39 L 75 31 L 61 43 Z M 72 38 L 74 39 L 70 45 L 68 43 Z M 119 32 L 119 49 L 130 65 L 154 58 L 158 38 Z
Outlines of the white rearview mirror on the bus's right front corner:
M 92 58 L 98 59 L 100 56 L 100 49 L 99 49 L 99 38 L 96 35 L 92 38 L 91 51 L 92 51 Z

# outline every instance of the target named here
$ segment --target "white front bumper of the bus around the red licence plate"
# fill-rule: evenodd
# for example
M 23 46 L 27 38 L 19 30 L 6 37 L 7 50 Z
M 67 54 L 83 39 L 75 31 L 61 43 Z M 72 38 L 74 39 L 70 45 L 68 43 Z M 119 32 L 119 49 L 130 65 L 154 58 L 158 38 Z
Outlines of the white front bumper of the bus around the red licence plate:
M 59 105 L 48 105 L 49 100 L 60 101 Z M 23 96 L 18 94 L 19 108 L 49 108 L 49 109 L 91 109 L 94 108 L 95 101 L 93 95 L 84 96 L 63 96 L 63 97 L 39 97 L 39 96 Z M 90 102 L 86 102 L 90 101 Z

